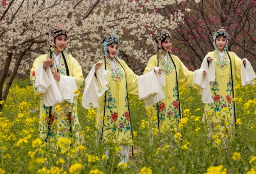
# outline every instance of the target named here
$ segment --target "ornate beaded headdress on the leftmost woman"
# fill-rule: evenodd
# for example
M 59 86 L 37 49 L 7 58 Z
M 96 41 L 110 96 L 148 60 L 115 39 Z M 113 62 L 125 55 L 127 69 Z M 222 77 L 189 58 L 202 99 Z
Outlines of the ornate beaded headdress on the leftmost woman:
M 56 23 L 53 28 L 49 30 L 48 33 L 48 40 L 47 40 L 47 47 L 48 50 L 53 51 L 53 47 L 56 47 L 55 39 L 58 36 L 65 35 L 67 37 L 67 28 L 62 23 Z M 52 46 L 52 47 L 51 47 Z M 67 45 L 64 48 L 64 50 L 67 50 Z

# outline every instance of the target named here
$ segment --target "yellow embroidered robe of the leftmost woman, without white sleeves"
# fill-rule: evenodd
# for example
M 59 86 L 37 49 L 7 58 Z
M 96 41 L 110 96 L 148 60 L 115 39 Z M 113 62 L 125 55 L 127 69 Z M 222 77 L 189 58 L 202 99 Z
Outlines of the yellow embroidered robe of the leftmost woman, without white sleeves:
M 64 56 L 67 61 L 69 75 L 70 77 L 73 77 L 75 79 L 76 86 L 78 89 L 80 89 L 84 80 L 81 66 L 78 64 L 78 61 L 76 61 L 75 58 L 72 57 L 72 55 L 68 55 L 64 53 Z M 50 118 L 49 118 L 50 107 L 46 106 L 44 103 L 44 94 L 39 93 L 37 91 L 37 88 L 35 88 L 36 69 L 43 63 L 44 60 L 48 58 L 50 58 L 50 52 L 48 52 L 45 55 L 40 55 L 38 58 L 36 58 L 36 60 L 33 63 L 33 67 L 31 69 L 31 75 L 30 75 L 31 83 L 33 84 L 33 90 L 41 100 L 40 101 L 40 122 L 39 122 L 40 138 L 42 139 L 42 141 L 47 141 L 48 137 L 59 139 L 60 137 L 68 136 L 69 134 L 65 134 L 65 133 L 67 133 L 67 131 L 70 131 L 70 121 L 71 121 L 72 132 L 75 133 L 75 136 L 76 136 L 75 141 L 77 144 L 82 144 L 84 142 L 83 135 L 80 135 L 80 132 L 77 131 L 78 129 L 80 129 L 80 124 L 79 124 L 78 115 L 77 115 L 77 101 L 76 101 L 77 97 L 74 98 L 73 103 L 69 103 L 69 102 L 65 103 L 65 105 L 70 105 L 70 107 L 72 108 L 71 118 L 68 112 L 64 112 L 63 114 L 59 115 L 53 110 L 51 110 Z M 56 62 L 53 64 L 53 67 L 55 65 L 56 65 Z M 61 59 L 59 63 L 59 69 L 60 69 L 61 75 L 67 75 L 67 70 L 64 64 L 64 59 L 62 54 L 61 54 Z M 57 85 L 58 83 L 59 82 L 56 81 Z M 53 121 L 56 122 L 56 127 L 54 127 L 54 129 L 49 129 L 48 123 L 49 125 L 51 125 L 53 124 Z M 53 128 L 53 127 L 50 126 L 50 128 Z

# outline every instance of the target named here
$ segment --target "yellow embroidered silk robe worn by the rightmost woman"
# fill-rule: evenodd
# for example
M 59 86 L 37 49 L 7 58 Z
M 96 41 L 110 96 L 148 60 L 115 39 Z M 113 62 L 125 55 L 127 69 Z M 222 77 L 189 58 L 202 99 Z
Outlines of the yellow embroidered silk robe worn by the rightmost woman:
M 239 78 L 241 77 L 242 60 L 234 52 L 228 53 L 231 58 L 235 95 L 236 76 Z M 228 53 L 226 51 L 224 52 L 223 62 L 217 49 L 208 53 L 213 58 L 212 61 L 214 61 L 216 79 L 214 83 L 210 84 L 211 97 L 214 102 L 206 103 L 203 114 L 203 121 L 207 120 L 209 123 L 220 123 L 220 116 L 226 116 L 225 119 L 230 118 L 231 120 L 234 116 L 235 111 L 234 104 L 232 102 L 231 66 Z M 228 110 L 223 110 L 225 107 L 227 107 Z M 212 116 L 208 116 L 210 112 L 212 113 Z

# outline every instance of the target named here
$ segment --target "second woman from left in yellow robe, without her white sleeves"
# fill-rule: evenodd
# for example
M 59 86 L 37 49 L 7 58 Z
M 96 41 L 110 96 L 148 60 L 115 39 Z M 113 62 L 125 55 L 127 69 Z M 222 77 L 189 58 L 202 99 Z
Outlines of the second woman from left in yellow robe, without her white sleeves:
M 125 61 L 118 58 L 119 44 L 115 33 L 103 39 L 104 55 L 102 60 L 96 64 L 94 72 L 97 79 L 95 78 L 90 83 L 97 84 L 97 87 L 103 90 L 97 70 L 102 66 L 105 72 L 108 72 L 106 92 L 97 100 L 96 127 L 100 130 L 102 141 L 121 144 L 119 145 L 120 153 L 124 158 L 120 163 L 126 163 L 132 138 L 132 116 L 130 116 L 128 93 L 138 95 L 138 76 L 125 64 Z M 90 86 L 90 84 L 86 85 Z M 86 98 L 86 96 L 83 97 Z M 106 155 L 108 156 L 108 152 Z

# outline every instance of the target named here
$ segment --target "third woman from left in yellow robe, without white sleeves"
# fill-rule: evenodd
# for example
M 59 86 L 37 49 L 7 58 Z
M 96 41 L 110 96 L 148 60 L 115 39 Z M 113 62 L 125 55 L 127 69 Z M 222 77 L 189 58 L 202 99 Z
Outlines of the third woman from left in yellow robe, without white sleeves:
M 181 120 L 181 101 L 178 87 L 193 88 L 194 72 L 189 71 L 177 56 L 170 54 L 172 48 L 170 32 L 161 30 L 157 33 L 155 42 L 157 54 L 149 59 L 144 74 L 154 66 L 163 69 L 166 81 L 163 90 L 166 98 L 151 106 L 151 113 L 157 113 L 158 119 L 155 124 L 161 131 L 163 125 L 177 124 Z

